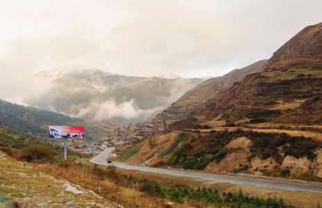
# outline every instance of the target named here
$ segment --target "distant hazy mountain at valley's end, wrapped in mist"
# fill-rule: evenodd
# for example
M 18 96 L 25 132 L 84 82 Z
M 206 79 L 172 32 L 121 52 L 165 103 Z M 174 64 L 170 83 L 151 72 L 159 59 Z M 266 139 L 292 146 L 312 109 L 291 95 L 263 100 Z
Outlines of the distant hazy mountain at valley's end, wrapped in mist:
M 102 121 L 108 114 L 124 125 L 149 121 L 203 81 L 128 77 L 77 66 L 41 71 L 35 77 L 46 80 L 51 89 L 39 98 L 26 98 L 28 105 L 86 121 Z

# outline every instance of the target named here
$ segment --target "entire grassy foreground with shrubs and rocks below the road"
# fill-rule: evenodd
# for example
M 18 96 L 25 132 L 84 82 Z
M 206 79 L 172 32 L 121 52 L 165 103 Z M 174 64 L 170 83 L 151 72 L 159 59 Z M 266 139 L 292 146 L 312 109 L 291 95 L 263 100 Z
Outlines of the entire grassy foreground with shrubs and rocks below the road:
M 169 202 L 171 207 L 319 207 L 322 198 L 318 193 L 142 174 L 80 162 L 56 161 L 41 169 L 35 162 L 26 166 L 5 154 L 0 159 L 2 203 L 20 207 L 169 207 Z M 83 193 L 67 191 L 66 183 Z

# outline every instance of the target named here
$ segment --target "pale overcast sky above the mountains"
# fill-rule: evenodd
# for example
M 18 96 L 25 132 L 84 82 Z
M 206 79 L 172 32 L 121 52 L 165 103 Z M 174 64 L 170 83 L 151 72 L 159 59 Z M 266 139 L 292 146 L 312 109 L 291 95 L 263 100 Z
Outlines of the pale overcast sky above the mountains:
M 0 0 L 0 98 L 45 83 L 39 71 L 81 65 L 126 76 L 223 76 L 271 58 L 321 0 Z M 5 91 L 3 89 L 6 89 Z

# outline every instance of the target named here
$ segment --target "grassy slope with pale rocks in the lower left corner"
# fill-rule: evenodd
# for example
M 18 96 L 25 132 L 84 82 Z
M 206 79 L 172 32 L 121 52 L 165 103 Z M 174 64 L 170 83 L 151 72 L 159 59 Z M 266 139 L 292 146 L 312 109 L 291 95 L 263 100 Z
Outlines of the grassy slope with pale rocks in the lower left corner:
M 0 152 L 0 207 L 114 207 L 93 191 L 26 166 Z M 1 205 L 1 202 L 3 203 Z

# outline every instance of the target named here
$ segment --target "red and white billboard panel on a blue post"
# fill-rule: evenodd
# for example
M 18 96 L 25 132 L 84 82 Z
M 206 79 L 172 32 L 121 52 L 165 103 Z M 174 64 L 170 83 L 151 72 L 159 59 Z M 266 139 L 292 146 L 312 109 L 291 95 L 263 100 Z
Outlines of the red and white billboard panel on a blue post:
M 84 138 L 84 127 L 49 126 L 49 138 Z

